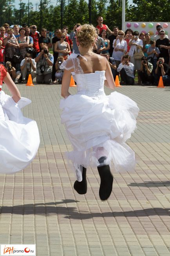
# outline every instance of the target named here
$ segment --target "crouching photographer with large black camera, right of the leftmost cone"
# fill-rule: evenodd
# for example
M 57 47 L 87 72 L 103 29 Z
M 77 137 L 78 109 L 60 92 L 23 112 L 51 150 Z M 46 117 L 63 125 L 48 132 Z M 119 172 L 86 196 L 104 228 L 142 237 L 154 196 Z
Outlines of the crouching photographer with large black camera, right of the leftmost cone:
M 35 58 L 36 66 L 36 82 L 49 84 L 51 82 L 52 65 L 54 57 L 49 53 L 47 44 L 44 44 L 41 52 Z

